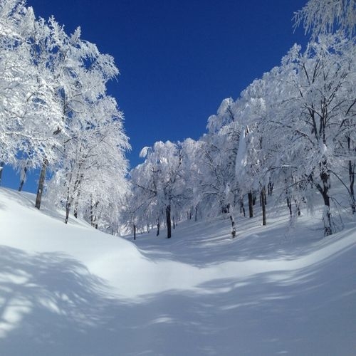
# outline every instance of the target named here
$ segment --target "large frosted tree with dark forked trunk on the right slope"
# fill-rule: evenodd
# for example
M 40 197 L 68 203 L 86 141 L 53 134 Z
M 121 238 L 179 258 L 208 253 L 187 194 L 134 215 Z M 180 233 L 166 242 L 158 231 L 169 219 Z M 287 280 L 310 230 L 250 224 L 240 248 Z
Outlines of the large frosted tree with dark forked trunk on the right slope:
M 352 137 L 355 132 L 352 125 L 345 126 L 345 112 L 350 114 L 355 105 L 355 90 L 350 87 L 352 67 L 346 59 L 350 56 L 344 56 L 350 46 L 342 33 L 320 36 L 304 53 L 294 46 L 283 58 L 278 74 L 283 100 L 273 129 L 286 139 L 278 157 L 298 167 L 300 180 L 323 197 L 325 235 L 333 233 L 330 175 L 337 175 L 341 162 L 336 147 L 340 137 L 345 140 L 345 132 Z

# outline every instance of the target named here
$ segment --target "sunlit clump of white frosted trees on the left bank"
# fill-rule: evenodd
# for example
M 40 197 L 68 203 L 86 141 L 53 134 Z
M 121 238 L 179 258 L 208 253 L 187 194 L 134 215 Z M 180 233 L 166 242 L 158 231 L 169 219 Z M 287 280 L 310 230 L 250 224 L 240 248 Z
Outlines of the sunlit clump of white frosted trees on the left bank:
M 36 19 L 22 0 L 0 2 L 0 51 L 1 167 L 19 169 L 20 189 L 28 169 L 41 167 L 38 209 L 51 169 L 48 193 L 66 206 L 66 221 L 73 208 L 117 231 L 130 145 L 106 93 L 119 73 L 114 59 L 80 38 L 80 28 L 68 35 L 53 17 Z

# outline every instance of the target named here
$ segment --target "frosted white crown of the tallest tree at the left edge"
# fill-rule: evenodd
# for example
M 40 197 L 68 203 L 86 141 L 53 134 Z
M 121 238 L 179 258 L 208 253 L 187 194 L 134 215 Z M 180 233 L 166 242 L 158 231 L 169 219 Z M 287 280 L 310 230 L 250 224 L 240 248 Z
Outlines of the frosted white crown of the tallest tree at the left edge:
M 31 169 L 56 145 L 52 132 L 61 112 L 48 69 L 49 28 L 23 4 L 0 5 L 0 159 L 15 167 L 26 160 Z

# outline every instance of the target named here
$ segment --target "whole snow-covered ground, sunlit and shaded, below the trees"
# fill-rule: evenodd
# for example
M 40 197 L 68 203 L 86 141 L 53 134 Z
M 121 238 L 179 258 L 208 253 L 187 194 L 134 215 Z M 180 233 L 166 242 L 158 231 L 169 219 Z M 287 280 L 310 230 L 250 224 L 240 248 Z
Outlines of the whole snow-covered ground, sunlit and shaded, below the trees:
M 186 221 L 135 244 L 0 189 L 0 355 L 356 355 L 356 226 Z M 316 227 L 315 227 L 316 226 Z

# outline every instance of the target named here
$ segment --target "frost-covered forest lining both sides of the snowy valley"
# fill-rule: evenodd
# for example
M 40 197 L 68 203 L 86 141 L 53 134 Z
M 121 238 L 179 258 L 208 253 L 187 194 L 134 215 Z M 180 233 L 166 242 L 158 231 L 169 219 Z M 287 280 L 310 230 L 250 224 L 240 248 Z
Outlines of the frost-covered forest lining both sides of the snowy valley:
M 183 219 L 253 217 L 268 197 L 291 221 L 322 201 L 323 233 L 356 214 L 355 1 L 310 0 L 295 12 L 308 46 L 295 44 L 279 66 L 239 98 L 222 100 L 199 140 L 155 142 L 129 171 L 123 114 L 107 93 L 119 71 L 112 56 L 56 19 L 36 19 L 25 1 L 0 2 L 0 162 L 38 169 L 36 207 L 51 204 L 96 229 L 120 226 L 167 238 Z M 1 170 L 0 170 L 1 174 Z M 346 197 L 339 200 L 340 189 Z

